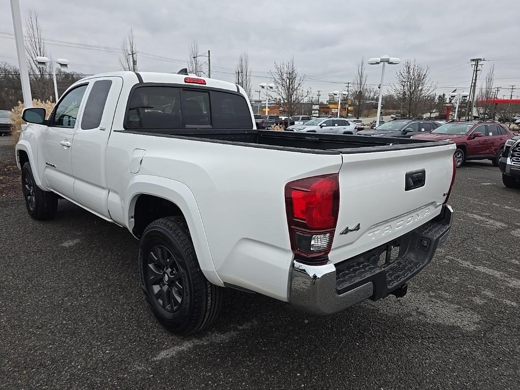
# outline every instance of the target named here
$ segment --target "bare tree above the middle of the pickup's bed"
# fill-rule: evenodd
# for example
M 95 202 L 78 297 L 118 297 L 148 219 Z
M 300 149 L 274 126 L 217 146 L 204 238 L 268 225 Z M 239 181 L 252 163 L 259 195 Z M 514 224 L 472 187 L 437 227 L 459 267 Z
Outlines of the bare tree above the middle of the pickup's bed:
M 275 62 L 275 71 L 270 74 L 272 83 L 275 84 L 275 94 L 282 105 L 287 108 L 288 116 L 296 114 L 296 110 L 302 106 L 303 100 L 308 98 L 310 89 L 304 91 L 305 75 L 298 73 L 294 58 L 288 62 Z

